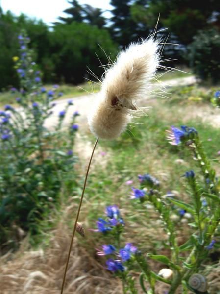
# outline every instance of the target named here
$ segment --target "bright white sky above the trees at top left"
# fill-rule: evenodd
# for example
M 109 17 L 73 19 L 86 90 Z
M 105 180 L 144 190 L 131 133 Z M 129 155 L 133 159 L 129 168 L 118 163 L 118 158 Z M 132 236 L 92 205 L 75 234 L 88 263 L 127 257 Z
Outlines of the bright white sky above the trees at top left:
M 111 9 L 110 0 L 78 0 L 79 4 L 89 4 L 103 10 Z M 10 10 L 15 15 L 24 13 L 31 18 L 42 19 L 45 23 L 57 21 L 58 16 L 67 16 L 62 13 L 71 5 L 67 0 L 0 0 L 4 12 Z M 108 17 L 109 14 L 104 16 Z

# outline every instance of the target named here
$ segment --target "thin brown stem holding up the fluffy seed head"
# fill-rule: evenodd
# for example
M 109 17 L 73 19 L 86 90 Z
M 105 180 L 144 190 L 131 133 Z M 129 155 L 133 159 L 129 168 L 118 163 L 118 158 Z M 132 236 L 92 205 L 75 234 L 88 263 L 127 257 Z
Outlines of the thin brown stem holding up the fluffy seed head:
M 74 228 L 73 228 L 73 234 L 72 234 L 70 248 L 69 248 L 69 252 L 68 252 L 68 256 L 67 256 L 67 262 L 66 262 L 66 267 L 65 267 L 64 275 L 63 275 L 63 282 L 62 282 L 62 287 L 61 287 L 60 294 L 63 294 L 63 289 L 64 289 L 65 280 L 66 280 L 66 274 L 67 274 L 68 264 L 69 264 L 69 260 L 70 260 L 71 249 L 72 249 L 72 246 L 73 246 L 73 239 L 74 239 L 74 235 L 75 235 L 75 229 L 76 229 L 77 221 L 78 221 L 78 218 L 79 218 L 80 209 L 81 209 L 81 206 L 82 206 L 82 200 L 83 200 L 84 192 L 85 192 L 85 189 L 86 189 L 86 182 L 87 182 L 87 178 L 88 178 L 88 174 L 89 174 L 90 165 L 91 165 L 91 162 L 92 162 L 92 159 L 93 159 L 94 151 L 95 151 L 96 146 L 98 144 L 98 140 L 99 139 L 97 138 L 96 139 L 96 142 L 95 142 L 95 145 L 93 147 L 93 151 L 92 151 L 92 154 L 91 154 L 91 157 L 90 157 L 90 160 L 89 160 L 89 164 L 88 164 L 88 167 L 87 167 L 87 171 L 86 171 L 86 176 L 85 176 L 85 180 L 84 180 L 82 195 L 81 195 L 81 198 L 80 198 L 80 202 L 79 202 L 79 206 L 78 206 L 78 211 L 77 211 L 77 215 L 76 215 L 76 218 L 75 218 L 75 224 L 74 224 Z

